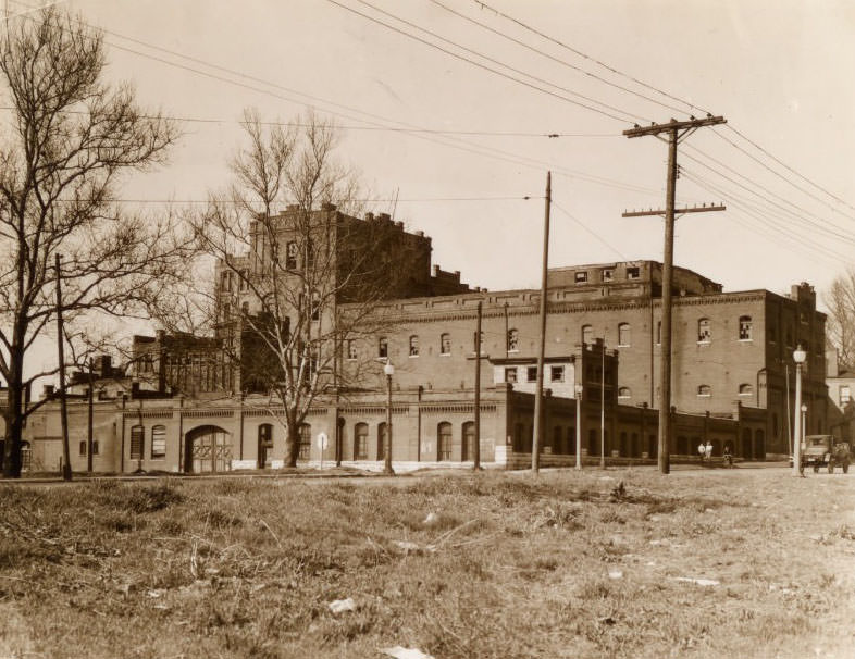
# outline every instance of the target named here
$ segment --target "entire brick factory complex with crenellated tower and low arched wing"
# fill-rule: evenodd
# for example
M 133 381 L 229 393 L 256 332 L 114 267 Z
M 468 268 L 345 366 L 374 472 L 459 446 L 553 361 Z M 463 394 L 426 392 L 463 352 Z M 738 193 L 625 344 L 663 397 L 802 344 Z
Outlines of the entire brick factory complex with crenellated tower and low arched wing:
M 309 222 L 308 233 L 299 231 L 302 221 Z M 430 238 L 405 232 L 387 215 L 359 220 L 334 207 L 309 214 L 292 208 L 252 223 L 249 233 L 248 251 L 218 265 L 211 337 L 135 337 L 132 374 L 161 398 L 137 388 L 129 398 L 99 402 L 102 462 L 112 456 L 112 469 L 121 471 L 282 463 L 282 403 L 265 386 L 282 376 L 282 363 L 269 358 L 269 346 L 253 332 L 269 313 L 269 294 L 275 293 L 264 288 L 274 264 L 283 272 L 284 284 L 278 284 L 286 290 L 280 294 L 287 294 L 287 303 L 275 321 L 263 322 L 280 323 L 286 335 L 306 341 L 318 341 L 322 327 L 333 328 L 329 345 L 318 349 L 333 351 L 335 359 L 298 428 L 302 459 L 363 463 L 382 458 L 386 361 L 395 366 L 396 462 L 471 459 L 476 363 L 484 459 L 505 464 L 529 459 L 540 290 L 470 289 L 459 272 L 432 271 Z M 323 277 L 312 274 L 319 263 Z M 661 282 L 661 264 L 655 261 L 548 272 L 548 461 L 569 461 L 577 431 L 588 456 L 605 449 L 621 458 L 655 457 Z M 325 303 L 315 303 L 312 291 Z M 698 440 L 710 439 L 717 452 L 730 445 L 744 458 L 786 455 L 795 388 L 792 352 L 798 345 L 808 352 L 803 369 L 808 432 L 827 432 L 825 315 L 816 310 L 810 286 L 794 286 L 790 295 L 726 293 L 677 268 L 673 294 L 672 453 L 694 455 Z M 334 332 L 336 322 L 363 312 L 367 302 L 370 331 Z M 476 360 L 479 304 L 482 353 Z M 263 369 L 272 377 L 261 377 Z M 51 409 L 45 406 L 45 419 L 32 424 L 42 433 L 32 439 L 55 448 Z M 327 436 L 325 449 L 314 443 L 320 433 Z M 46 450 L 34 449 L 34 456 L 50 463 L 53 453 Z

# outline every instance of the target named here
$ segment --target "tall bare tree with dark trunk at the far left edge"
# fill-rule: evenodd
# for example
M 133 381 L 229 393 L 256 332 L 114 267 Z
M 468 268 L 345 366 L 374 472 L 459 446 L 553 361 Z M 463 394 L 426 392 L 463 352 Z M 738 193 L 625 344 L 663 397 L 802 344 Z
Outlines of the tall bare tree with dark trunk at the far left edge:
M 101 35 L 54 9 L 10 27 L 0 47 L 11 120 L 0 133 L 0 374 L 9 386 L 3 473 L 21 474 L 21 432 L 37 406 L 24 393 L 34 341 L 55 311 L 70 334 L 94 314 L 145 314 L 179 274 L 184 252 L 171 217 L 127 214 L 122 173 L 160 163 L 174 125 L 145 114 L 127 85 L 103 79 Z M 38 405 L 38 403 L 37 403 Z

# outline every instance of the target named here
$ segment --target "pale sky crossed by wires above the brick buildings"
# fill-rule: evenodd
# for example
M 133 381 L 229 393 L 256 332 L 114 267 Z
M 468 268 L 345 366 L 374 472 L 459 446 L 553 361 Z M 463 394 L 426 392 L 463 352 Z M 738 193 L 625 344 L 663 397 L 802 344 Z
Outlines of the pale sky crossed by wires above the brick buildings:
M 676 263 L 780 293 L 821 291 L 852 262 L 851 0 L 370 2 L 65 2 L 107 30 L 109 73 L 144 104 L 221 120 L 185 122 L 170 165 L 125 196 L 205 199 L 227 181 L 244 108 L 288 121 L 310 104 L 343 126 L 339 154 L 374 196 L 397 195 L 396 219 L 433 237 L 434 263 L 491 289 L 534 287 L 546 171 L 550 266 L 661 260 L 661 220 L 621 212 L 664 206 L 667 146 L 621 132 L 708 111 L 728 124 L 681 146 L 678 202 L 728 210 L 679 220 Z

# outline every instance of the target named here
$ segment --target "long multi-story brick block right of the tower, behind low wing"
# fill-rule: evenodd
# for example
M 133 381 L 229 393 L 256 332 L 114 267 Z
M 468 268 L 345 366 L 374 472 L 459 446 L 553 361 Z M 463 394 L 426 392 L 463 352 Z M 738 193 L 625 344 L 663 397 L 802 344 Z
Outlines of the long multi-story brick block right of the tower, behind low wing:
M 571 356 L 605 339 L 620 353 L 618 400 L 658 407 L 661 264 L 654 261 L 562 268 L 548 273 L 545 386 L 572 396 Z M 738 403 L 765 410 L 752 455 L 789 451 L 795 370 L 792 352 L 808 352 L 803 399 L 808 431 L 822 432 L 825 315 L 807 284 L 789 296 L 768 290 L 724 293 L 719 284 L 677 269 L 673 310 L 672 406 L 680 412 L 731 414 Z M 540 290 L 479 291 L 406 298 L 379 313 L 394 331 L 348 347 L 354 362 L 389 358 L 402 388 L 463 390 L 474 383 L 475 309 L 483 308 L 482 381 L 531 390 L 536 380 Z M 345 366 L 347 361 L 345 362 Z M 690 452 L 687 446 L 674 447 Z

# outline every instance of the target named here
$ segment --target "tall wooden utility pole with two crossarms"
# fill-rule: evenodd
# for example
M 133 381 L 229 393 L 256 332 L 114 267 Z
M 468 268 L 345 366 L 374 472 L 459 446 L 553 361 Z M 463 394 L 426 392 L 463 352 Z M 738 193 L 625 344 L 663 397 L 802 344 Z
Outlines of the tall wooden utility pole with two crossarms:
M 723 124 L 723 116 L 707 115 L 706 119 L 692 117 L 679 122 L 672 119 L 667 124 L 653 124 L 624 130 L 629 138 L 654 135 L 659 139 L 662 133 L 668 134 L 668 185 L 666 188 L 665 210 L 624 212 L 623 217 L 641 217 L 645 215 L 665 216 L 665 253 L 662 254 L 662 331 L 660 348 L 659 373 L 659 471 L 667 474 L 671 471 L 671 288 L 673 282 L 673 250 L 674 250 L 674 214 L 702 213 L 706 211 L 723 211 L 724 206 L 703 206 L 693 208 L 674 208 L 677 189 L 677 145 L 703 126 Z M 652 328 L 653 331 L 653 328 Z M 653 375 L 653 374 L 652 374 Z

